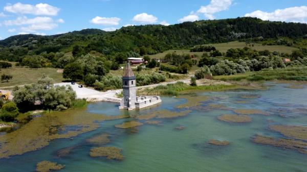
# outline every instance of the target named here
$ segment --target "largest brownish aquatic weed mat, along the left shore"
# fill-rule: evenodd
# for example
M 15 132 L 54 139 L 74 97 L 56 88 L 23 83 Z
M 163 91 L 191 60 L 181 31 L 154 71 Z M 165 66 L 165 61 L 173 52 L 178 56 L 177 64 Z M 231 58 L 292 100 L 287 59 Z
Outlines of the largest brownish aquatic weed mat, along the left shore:
M 71 138 L 93 131 L 99 127 L 97 121 L 123 118 L 90 114 L 81 110 L 45 113 L 35 117 L 20 129 L 0 135 L 0 159 L 39 150 L 54 139 Z M 23 141 L 20 141 L 23 140 Z

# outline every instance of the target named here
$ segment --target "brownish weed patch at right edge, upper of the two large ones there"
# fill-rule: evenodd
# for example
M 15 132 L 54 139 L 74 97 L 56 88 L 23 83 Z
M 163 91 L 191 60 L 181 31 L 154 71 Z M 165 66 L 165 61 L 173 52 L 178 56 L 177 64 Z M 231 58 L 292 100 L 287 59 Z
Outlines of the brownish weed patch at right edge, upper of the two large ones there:
M 272 125 L 271 130 L 277 131 L 284 136 L 307 140 L 307 127 L 305 126 L 283 126 L 283 125 Z

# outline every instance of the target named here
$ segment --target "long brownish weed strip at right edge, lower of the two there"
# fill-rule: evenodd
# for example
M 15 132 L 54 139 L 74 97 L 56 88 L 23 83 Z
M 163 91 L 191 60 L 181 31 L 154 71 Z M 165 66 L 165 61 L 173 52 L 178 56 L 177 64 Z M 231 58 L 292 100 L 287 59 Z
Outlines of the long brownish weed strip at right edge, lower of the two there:
M 267 136 L 256 135 L 253 139 L 254 143 L 268 144 L 280 148 L 287 148 L 292 150 L 297 150 L 300 153 L 307 154 L 307 142 L 294 140 L 294 139 L 284 139 L 284 138 L 273 138 Z

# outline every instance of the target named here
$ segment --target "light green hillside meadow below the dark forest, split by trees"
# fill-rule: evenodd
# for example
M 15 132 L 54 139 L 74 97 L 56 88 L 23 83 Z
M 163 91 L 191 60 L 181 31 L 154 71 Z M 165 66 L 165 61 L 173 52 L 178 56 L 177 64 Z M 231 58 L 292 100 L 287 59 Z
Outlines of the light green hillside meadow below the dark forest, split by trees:
M 228 49 L 230 48 L 244 48 L 247 46 L 245 42 L 238 42 L 238 41 L 233 41 L 233 42 L 228 42 L 228 43 L 217 43 L 217 44 L 212 44 L 215 46 L 215 48 L 222 52 L 226 53 Z M 248 46 L 252 48 L 253 50 L 257 51 L 264 51 L 264 50 L 269 50 L 270 52 L 280 52 L 280 53 L 288 53 L 291 54 L 293 50 L 298 50 L 295 47 L 291 46 L 285 46 L 285 45 L 262 45 L 259 43 L 255 43 L 254 46 Z M 190 52 L 190 50 L 168 50 L 163 53 L 158 53 L 155 55 L 150 55 L 150 58 L 155 58 L 155 59 L 162 59 L 164 56 L 168 53 L 173 53 L 176 52 L 177 54 L 190 54 L 190 55 L 198 55 L 198 58 L 202 57 L 203 52 Z

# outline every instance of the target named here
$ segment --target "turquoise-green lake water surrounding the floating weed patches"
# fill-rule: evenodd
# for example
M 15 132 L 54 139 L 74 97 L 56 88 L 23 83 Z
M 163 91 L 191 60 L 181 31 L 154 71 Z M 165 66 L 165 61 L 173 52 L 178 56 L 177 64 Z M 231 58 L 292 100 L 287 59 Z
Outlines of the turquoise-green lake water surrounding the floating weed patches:
M 136 129 L 114 127 L 131 118 L 103 121 L 97 130 L 78 135 L 73 140 L 53 140 L 41 150 L 0 159 L 0 171 L 35 171 L 36 163 L 43 160 L 65 165 L 59 171 L 307 171 L 306 154 L 251 141 L 255 134 L 282 137 L 268 129 L 272 124 L 307 126 L 307 113 L 293 111 L 307 108 L 307 87 L 291 89 L 286 88 L 286 84 L 268 84 L 270 87 L 267 90 L 198 93 L 209 97 L 202 103 L 203 107 L 223 104 L 233 109 L 259 109 L 272 114 L 251 115 L 252 122 L 247 124 L 217 119 L 222 114 L 233 114 L 232 111 L 206 109 L 192 110 L 185 117 L 158 119 L 162 121 L 161 125 L 144 124 Z M 242 95 L 259 97 L 243 99 Z M 113 103 L 90 104 L 87 111 L 106 115 L 145 114 L 165 109 L 180 111 L 176 107 L 186 102 L 171 97 L 162 97 L 162 101 L 159 106 L 141 111 L 120 111 Z M 238 104 L 236 101 L 249 103 Z M 280 116 L 277 110 L 282 110 L 284 116 Z M 185 129 L 174 129 L 179 126 Z M 101 133 L 111 135 L 111 142 L 107 146 L 122 149 L 123 161 L 89 156 L 94 145 L 85 140 Z M 209 145 L 207 141 L 210 139 L 228 140 L 231 143 L 228 146 Z M 58 150 L 69 146 L 74 148 L 69 156 L 57 156 Z

